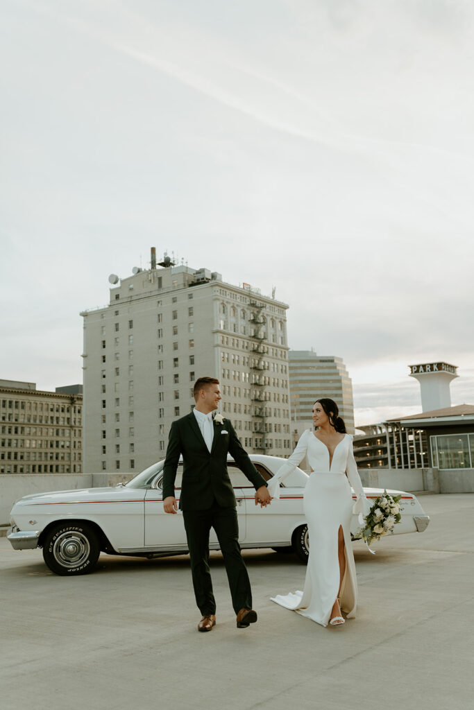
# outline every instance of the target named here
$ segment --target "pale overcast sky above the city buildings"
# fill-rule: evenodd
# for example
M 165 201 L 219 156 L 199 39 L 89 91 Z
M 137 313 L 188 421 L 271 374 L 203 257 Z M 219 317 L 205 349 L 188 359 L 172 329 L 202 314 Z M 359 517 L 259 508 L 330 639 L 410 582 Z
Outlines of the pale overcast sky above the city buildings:
M 82 381 L 80 310 L 150 247 L 290 305 L 356 422 L 474 403 L 474 7 L 3 0 L 0 378 Z M 318 393 L 315 393 L 318 394 Z

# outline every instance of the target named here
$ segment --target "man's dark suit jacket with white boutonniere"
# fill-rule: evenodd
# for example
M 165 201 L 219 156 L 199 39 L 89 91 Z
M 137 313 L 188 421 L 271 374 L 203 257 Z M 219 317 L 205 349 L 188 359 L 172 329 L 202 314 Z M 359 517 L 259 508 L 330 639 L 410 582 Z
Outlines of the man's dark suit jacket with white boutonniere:
M 250 461 L 228 419 L 222 424 L 214 422 L 210 452 L 193 412 L 173 422 L 163 467 L 163 500 L 175 494 L 176 469 L 182 454 L 181 510 L 206 510 L 214 501 L 223 508 L 235 507 L 234 490 L 227 472 L 227 453 L 254 488 L 266 486 L 265 479 Z

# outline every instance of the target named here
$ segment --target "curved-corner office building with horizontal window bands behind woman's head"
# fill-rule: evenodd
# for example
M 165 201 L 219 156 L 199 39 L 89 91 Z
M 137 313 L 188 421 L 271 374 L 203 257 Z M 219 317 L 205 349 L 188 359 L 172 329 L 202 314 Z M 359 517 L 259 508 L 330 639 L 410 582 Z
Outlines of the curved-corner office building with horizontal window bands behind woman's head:
M 288 356 L 292 430 L 301 434 L 303 429 L 311 427 L 316 398 L 330 397 L 338 405 L 348 433 L 353 434 L 352 381 L 343 359 L 317 355 L 312 350 L 290 350 Z

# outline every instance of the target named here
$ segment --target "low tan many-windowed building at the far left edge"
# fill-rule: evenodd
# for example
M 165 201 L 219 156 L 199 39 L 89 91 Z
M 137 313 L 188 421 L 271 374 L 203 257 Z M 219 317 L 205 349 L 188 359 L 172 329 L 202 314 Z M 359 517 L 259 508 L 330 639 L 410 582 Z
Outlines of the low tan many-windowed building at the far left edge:
M 0 474 L 82 472 L 81 394 L 0 380 L 0 419 Z

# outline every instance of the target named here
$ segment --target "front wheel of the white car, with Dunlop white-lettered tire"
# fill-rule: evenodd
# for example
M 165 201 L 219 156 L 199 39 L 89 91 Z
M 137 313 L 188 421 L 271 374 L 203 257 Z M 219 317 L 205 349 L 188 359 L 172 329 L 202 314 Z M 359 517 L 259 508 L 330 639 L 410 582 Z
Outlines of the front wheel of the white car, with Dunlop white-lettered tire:
M 61 523 L 50 528 L 43 540 L 43 559 L 52 572 L 77 577 L 92 572 L 100 546 L 95 531 L 86 523 Z

